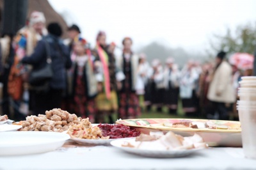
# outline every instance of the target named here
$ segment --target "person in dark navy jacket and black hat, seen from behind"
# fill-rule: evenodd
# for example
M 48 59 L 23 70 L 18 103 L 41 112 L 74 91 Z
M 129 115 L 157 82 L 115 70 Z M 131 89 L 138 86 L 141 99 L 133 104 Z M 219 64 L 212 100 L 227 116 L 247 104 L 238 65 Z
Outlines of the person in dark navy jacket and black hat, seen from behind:
M 47 65 L 47 54 L 51 56 L 53 76 L 49 80 L 49 89 L 47 91 L 35 89 L 33 98 L 35 100 L 34 114 L 44 114 L 45 111 L 61 107 L 63 90 L 67 88 L 65 72 L 72 65 L 68 56 L 68 49 L 60 38 L 62 34 L 60 25 L 58 23 L 51 23 L 47 29 L 49 35 L 37 43 L 31 56 L 26 56 L 21 61 L 24 64 L 32 65 L 33 70 L 40 70 Z

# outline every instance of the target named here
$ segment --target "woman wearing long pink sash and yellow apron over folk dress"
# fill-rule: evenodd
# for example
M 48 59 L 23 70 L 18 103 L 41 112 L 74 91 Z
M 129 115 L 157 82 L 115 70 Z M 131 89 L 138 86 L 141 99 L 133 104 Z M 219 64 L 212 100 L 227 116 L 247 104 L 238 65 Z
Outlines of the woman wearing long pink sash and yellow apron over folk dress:
M 97 88 L 99 91 L 96 97 L 98 109 L 96 122 L 104 122 L 104 116 L 108 115 L 109 123 L 114 123 L 111 114 L 118 109 L 116 90 L 120 86 L 120 81 L 124 79 L 124 75 L 116 69 L 113 50 L 111 50 L 111 45 L 106 44 L 106 33 L 103 31 L 100 31 L 97 35 L 95 52 L 97 55 Z

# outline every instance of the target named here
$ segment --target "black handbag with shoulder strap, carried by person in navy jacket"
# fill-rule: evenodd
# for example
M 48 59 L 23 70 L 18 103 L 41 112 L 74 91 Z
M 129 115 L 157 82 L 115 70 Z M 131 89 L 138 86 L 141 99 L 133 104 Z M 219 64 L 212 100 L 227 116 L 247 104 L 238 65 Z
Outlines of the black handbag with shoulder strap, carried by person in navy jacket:
M 33 88 L 44 89 L 44 87 L 46 86 L 45 84 L 49 84 L 49 81 L 52 79 L 53 76 L 49 43 L 46 40 L 44 42 L 47 53 L 46 65 L 42 69 L 31 70 L 28 81 Z

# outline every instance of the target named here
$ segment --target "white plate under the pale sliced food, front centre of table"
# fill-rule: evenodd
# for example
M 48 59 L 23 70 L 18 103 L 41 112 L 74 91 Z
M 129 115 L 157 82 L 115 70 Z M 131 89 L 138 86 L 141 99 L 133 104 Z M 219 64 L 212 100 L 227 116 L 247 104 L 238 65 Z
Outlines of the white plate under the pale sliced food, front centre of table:
M 175 157 L 185 157 L 203 148 L 196 148 L 191 150 L 141 150 L 138 148 L 124 147 L 122 144 L 125 142 L 135 142 L 135 139 L 120 139 L 116 141 L 111 141 L 111 145 L 119 148 L 120 150 L 127 151 L 128 153 L 133 153 L 143 157 L 155 157 L 155 158 L 175 158 Z

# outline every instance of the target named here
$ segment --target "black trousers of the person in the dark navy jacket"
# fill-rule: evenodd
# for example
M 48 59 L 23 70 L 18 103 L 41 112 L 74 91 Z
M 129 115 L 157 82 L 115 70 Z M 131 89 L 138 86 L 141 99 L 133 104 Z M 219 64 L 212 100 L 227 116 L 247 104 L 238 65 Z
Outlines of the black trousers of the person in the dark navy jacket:
M 34 104 L 33 105 L 33 114 L 45 114 L 45 111 L 49 111 L 54 108 L 61 107 L 62 100 L 61 89 L 50 89 L 48 92 L 44 93 L 34 93 Z

